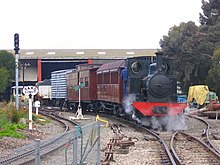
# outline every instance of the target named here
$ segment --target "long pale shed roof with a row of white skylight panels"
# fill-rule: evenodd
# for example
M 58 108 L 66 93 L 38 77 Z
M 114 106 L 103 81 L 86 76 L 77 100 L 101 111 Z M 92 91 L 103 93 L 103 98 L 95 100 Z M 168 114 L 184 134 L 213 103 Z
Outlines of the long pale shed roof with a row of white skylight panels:
M 7 50 L 14 54 L 14 50 Z M 21 49 L 20 59 L 125 59 L 154 56 L 157 49 Z

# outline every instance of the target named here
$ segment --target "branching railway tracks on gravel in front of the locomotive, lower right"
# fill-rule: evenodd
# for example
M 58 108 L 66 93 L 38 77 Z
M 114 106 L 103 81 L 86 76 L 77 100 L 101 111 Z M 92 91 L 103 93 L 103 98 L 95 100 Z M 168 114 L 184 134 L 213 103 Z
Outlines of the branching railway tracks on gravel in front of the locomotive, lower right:
M 189 118 L 197 121 L 194 125 L 197 128 L 176 132 L 155 132 L 132 121 L 121 118 L 119 121 L 129 123 L 135 129 L 146 133 L 146 138 L 151 140 L 151 145 L 154 145 L 157 150 L 155 153 L 158 153 L 157 156 L 152 153 L 156 164 L 220 164 L 219 150 L 209 137 L 210 124 L 196 116 L 189 116 Z M 154 140 L 149 135 L 153 136 Z

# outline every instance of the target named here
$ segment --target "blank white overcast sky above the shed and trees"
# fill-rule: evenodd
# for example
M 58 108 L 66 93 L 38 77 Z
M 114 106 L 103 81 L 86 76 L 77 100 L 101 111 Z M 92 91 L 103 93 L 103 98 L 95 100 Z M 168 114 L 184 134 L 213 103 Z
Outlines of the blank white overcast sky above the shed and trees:
M 150 49 L 201 0 L 1 0 L 0 49 Z

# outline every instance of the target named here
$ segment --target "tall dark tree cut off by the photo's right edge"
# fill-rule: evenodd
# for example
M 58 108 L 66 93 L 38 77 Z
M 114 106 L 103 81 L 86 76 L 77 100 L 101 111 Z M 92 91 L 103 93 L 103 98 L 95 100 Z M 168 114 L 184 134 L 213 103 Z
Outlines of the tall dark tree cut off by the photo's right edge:
M 200 31 L 206 34 L 207 43 L 210 43 L 209 47 L 214 52 L 206 83 L 220 95 L 220 0 L 203 0 L 202 9 Z

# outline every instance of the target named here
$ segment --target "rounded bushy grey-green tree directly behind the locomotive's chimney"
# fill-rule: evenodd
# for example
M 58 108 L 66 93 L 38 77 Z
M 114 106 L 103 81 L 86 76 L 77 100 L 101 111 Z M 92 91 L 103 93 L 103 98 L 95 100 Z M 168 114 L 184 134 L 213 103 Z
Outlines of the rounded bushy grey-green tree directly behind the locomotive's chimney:
M 204 83 L 208 74 L 211 54 L 202 50 L 209 48 L 205 44 L 200 46 L 206 42 L 203 40 L 203 34 L 192 21 L 172 27 L 168 36 L 163 36 L 160 40 L 164 53 L 174 59 L 175 74 L 185 93 L 190 85 Z

